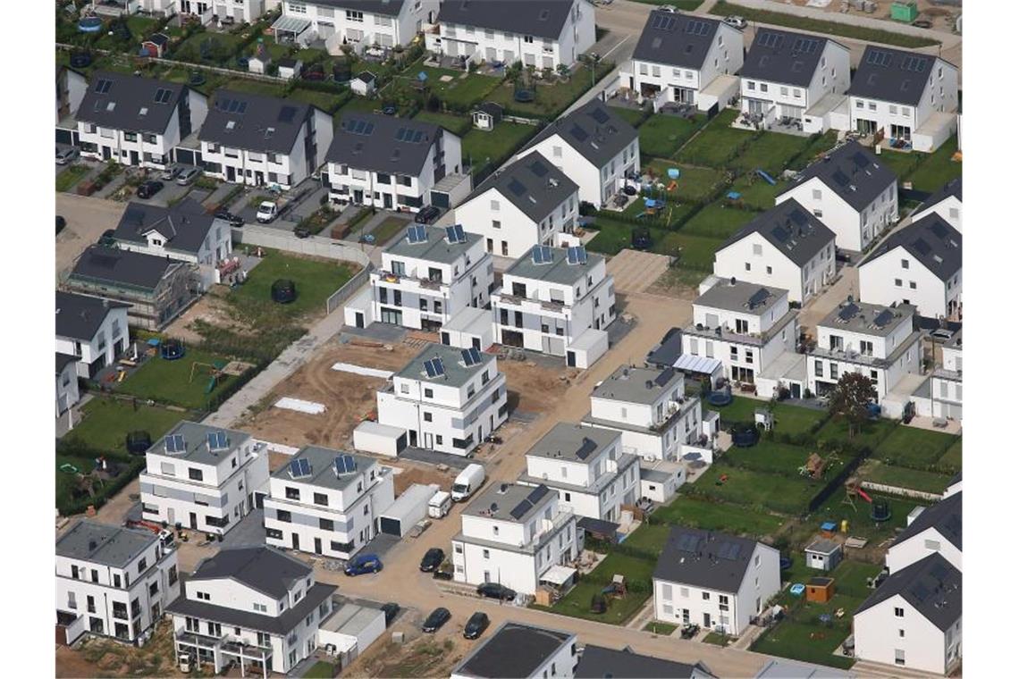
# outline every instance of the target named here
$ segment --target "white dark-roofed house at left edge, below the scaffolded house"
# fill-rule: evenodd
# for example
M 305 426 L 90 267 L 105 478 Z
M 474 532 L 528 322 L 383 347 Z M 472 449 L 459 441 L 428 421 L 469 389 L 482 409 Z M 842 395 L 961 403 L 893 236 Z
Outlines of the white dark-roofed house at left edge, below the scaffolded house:
M 56 351 L 74 357 L 77 377 L 95 377 L 102 369 L 113 365 L 127 348 L 128 306 L 102 297 L 57 291 Z

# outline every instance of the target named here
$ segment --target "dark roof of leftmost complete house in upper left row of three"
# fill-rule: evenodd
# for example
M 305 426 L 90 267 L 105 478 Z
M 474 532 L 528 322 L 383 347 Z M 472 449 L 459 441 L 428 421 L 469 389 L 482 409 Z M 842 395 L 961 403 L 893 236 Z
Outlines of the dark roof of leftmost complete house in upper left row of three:
M 162 134 L 187 92 L 179 82 L 97 71 L 76 118 L 100 127 Z

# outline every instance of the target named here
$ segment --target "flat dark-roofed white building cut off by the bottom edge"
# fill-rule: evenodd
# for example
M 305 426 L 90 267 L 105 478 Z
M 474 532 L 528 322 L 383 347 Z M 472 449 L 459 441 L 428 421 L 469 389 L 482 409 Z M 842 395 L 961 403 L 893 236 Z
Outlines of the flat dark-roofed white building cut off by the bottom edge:
M 578 658 L 576 634 L 507 620 L 486 634 L 449 679 L 573 679 Z

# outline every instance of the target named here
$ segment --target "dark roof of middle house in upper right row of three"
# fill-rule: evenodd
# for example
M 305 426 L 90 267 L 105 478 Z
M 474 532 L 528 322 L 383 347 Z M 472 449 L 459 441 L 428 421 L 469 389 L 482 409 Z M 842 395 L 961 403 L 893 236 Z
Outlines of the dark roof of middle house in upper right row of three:
M 827 38 L 804 33 L 759 29 L 743 59 L 740 75 L 805 88 L 810 84 L 828 42 Z

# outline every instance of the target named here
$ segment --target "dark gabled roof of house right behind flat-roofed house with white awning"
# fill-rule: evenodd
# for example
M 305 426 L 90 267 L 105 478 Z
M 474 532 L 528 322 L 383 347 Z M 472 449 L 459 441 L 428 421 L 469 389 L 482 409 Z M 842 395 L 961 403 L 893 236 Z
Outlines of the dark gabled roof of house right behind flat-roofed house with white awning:
M 751 233 L 761 234 L 798 267 L 810 262 L 835 240 L 832 229 L 792 199 L 755 217 L 718 249 L 729 247 Z

